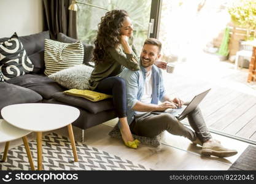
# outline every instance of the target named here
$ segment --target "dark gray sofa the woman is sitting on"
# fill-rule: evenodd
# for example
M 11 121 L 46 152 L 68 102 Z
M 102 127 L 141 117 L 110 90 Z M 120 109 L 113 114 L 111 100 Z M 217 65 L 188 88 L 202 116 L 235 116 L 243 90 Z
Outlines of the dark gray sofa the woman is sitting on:
M 2 38 L 0 42 L 8 39 Z M 80 117 L 72 125 L 82 129 L 83 142 L 85 129 L 117 117 L 112 99 L 91 102 L 87 99 L 62 93 L 67 89 L 44 75 L 44 39 L 50 39 L 48 31 L 20 37 L 29 59 L 34 64 L 34 69 L 30 74 L 0 82 L 0 110 L 10 104 L 34 102 L 66 104 L 77 107 L 80 110 Z M 64 34 L 58 34 L 58 40 L 67 43 L 76 42 L 76 40 Z M 90 66 L 89 62 L 92 58 L 93 46 L 84 44 L 84 48 L 85 58 L 83 63 Z M 1 115 L 0 118 L 2 118 Z

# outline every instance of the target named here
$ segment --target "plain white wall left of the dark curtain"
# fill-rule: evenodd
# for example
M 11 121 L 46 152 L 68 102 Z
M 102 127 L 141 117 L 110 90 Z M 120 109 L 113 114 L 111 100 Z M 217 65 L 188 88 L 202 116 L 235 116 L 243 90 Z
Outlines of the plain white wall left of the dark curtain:
M 42 0 L 0 0 L 0 37 L 39 33 L 43 30 Z

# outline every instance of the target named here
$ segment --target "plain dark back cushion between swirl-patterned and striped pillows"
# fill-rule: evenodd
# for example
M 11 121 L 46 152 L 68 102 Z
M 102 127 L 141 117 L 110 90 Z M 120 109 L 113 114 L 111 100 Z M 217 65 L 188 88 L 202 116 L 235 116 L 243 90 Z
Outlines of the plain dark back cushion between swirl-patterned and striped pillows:
M 44 72 L 44 39 L 50 39 L 49 31 L 43 31 L 28 36 L 20 36 L 20 40 L 34 64 L 33 73 L 42 74 Z

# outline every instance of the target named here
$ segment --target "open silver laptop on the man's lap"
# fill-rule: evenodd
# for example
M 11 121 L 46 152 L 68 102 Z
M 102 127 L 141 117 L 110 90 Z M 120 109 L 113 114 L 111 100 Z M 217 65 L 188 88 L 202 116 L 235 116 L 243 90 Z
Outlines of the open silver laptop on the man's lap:
M 204 97 L 206 96 L 206 94 L 209 93 L 210 90 L 211 88 L 209 90 L 204 91 L 203 93 L 197 94 L 192 99 L 192 101 L 189 102 L 188 105 L 182 105 L 182 107 L 177 109 L 166 109 L 165 112 L 170 113 L 171 115 L 176 117 L 178 120 L 182 120 L 187 116 L 188 113 L 192 112 L 192 110 L 194 110 L 200 104 L 200 102 L 204 99 Z M 152 113 L 160 114 L 163 112 L 152 112 Z

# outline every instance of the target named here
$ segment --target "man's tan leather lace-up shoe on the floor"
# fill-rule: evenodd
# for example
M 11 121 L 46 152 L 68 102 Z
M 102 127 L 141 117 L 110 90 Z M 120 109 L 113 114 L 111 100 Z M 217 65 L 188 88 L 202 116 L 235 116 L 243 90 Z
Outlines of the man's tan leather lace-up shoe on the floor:
M 219 142 L 205 142 L 201 151 L 204 156 L 217 156 L 220 158 L 236 155 L 238 151 L 224 148 Z

